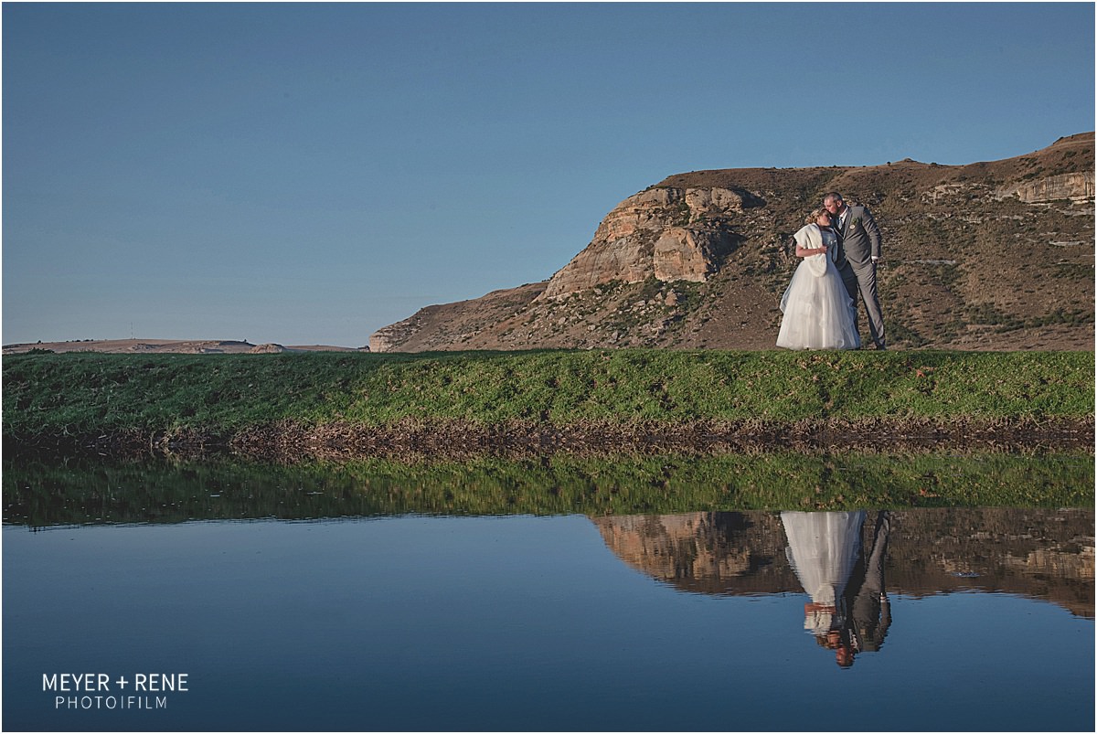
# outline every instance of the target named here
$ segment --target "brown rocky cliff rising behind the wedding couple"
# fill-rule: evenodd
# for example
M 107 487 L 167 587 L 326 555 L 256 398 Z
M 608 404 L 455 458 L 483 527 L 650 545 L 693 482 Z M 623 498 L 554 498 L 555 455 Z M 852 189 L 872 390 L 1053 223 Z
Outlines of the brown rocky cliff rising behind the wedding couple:
M 547 281 L 429 306 L 370 348 L 772 348 L 791 234 L 832 190 L 883 232 L 893 347 L 1093 349 L 1093 133 L 966 166 L 671 176 L 614 207 Z

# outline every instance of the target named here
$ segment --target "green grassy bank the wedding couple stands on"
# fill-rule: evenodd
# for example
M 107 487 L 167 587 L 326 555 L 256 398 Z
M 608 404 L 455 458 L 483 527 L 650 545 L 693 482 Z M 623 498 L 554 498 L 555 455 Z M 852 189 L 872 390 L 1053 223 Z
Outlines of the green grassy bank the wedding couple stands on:
M 434 424 L 529 431 L 697 421 L 760 421 L 767 430 L 821 421 L 1059 421 L 1088 426 L 1092 433 L 1093 414 L 1093 352 L 69 353 L 3 360 L 3 436 L 16 448 L 123 434 L 228 441 L 272 426 Z

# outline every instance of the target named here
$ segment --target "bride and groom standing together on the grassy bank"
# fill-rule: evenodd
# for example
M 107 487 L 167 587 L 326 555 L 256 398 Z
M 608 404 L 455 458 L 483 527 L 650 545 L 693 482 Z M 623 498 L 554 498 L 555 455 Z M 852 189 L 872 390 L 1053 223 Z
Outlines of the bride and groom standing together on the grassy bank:
M 781 297 L 777 346 L 785 349 L 859 349 L 857 295 L 869 316 L 877 349 L 885 348 L 877 292 L 880 228 L 868 208 L 830 192 L 793 235 L 803 262 Z

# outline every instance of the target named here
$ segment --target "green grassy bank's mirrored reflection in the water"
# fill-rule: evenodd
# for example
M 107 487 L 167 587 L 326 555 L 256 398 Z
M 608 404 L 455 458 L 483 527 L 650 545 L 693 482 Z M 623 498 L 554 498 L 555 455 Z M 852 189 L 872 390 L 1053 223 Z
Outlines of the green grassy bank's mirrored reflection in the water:
M 784 453 L 293 466 L 21 463 L 4 467 L 3 497 L 4 521 L 32 527 L 408 512 L 1088 507 L 1094 464 L 1087 455 Z

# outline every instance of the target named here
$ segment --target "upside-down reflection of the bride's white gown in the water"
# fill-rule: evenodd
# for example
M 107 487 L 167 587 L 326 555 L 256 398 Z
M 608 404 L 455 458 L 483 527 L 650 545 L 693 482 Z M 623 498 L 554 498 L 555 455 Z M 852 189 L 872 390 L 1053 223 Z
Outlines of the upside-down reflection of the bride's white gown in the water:
M 816 635 L 830 630 L 849 575 L 861 551 L 864 510 L 855 512 L 781 512 L 785 551 L 812 602 L 804 605 L 804 629 Z

